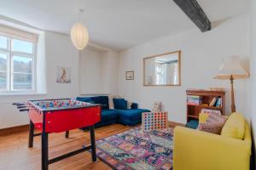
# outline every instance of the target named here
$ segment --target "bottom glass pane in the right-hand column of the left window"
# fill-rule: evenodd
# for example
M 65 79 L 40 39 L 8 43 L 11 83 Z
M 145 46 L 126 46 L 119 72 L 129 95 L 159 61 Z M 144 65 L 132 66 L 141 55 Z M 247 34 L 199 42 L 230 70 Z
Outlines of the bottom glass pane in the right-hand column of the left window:
M 32 74 L 14 73 L 14 89 L 32 89 Z

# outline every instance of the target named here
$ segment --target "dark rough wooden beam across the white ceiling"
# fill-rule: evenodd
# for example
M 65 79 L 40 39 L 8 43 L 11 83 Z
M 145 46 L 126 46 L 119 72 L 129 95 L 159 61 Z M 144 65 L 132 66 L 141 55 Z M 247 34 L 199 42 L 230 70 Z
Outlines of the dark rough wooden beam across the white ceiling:
M 195 25 L 202 31 L 210 31 L 212 28 L 211 21 L 203 11 L 196 0 L 173 0 L 179 8 L 192 20 Z

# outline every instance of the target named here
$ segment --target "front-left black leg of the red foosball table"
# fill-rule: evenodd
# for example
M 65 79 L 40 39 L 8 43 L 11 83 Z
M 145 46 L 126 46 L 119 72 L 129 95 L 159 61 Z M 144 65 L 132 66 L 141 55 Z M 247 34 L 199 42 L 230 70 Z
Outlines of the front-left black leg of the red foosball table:
M 48 133 L 42 133 L 42 170 L 48 170 Z

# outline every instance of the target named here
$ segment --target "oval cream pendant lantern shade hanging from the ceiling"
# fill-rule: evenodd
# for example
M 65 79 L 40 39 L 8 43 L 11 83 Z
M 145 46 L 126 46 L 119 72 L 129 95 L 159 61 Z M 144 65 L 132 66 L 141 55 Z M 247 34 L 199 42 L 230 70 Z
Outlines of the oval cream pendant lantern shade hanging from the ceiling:
M 75 48 L 82 50 L 89 41 L 89 34 L 86 27 L 82 23 L 73 25 L 70 31 L 71 40 Z

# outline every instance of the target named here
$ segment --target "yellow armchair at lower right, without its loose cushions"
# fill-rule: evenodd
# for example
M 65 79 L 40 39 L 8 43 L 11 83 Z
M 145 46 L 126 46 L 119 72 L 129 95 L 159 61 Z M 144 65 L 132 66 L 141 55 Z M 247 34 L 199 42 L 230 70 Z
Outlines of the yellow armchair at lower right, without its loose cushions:
M 251 145 L 247 122 L 243 140 L 175 127 L 173 170 L 249 170 Z

